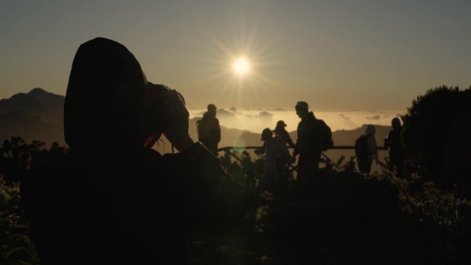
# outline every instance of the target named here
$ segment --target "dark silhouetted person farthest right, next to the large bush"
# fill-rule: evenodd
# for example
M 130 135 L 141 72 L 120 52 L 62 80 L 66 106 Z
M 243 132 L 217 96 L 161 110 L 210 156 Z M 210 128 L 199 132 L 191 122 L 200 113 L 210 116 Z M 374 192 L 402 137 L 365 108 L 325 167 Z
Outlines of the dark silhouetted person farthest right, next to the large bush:
M 401 120 L 393 118 L 391 120 L 392 130 L 388 137 L 384 139 L 384 147 L 388 148 L 389 169 L 396 169 L 396 175 L 402 177 L 404 173 L 404 149 L 401 140 Z

